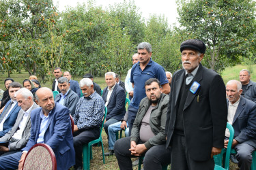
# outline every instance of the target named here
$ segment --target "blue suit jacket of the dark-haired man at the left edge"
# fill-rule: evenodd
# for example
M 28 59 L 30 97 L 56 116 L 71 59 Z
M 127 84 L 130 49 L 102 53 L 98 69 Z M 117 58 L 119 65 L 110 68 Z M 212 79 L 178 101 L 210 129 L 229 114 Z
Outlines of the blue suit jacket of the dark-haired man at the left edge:
M 5 112 L 5 109 L 8 107 L 8 105 L 10 105 L 11 101 L 12 100 L 6 103 L 5 108 L 3 109 L 3 112 Z M 0 131 L 0 137 L 3 137 L 5 133 L 8 133 L 12 129 L 12 126 L 14 126 L 16 122 L 16 118 L 18 116 L 19 111 L 20 111 L 20 107 L 18 106 L 18 103 L 16 103 L 16 105 L 14 105 L 14 107 L 12 108 L 12 111 L 10 112 L 10 114 L 8 114 L 8 117 L 5 119 L 5 122 L 3 123 L 3 131 Z M 1 116 L 2 114 L 0 115 L 0 117 Z

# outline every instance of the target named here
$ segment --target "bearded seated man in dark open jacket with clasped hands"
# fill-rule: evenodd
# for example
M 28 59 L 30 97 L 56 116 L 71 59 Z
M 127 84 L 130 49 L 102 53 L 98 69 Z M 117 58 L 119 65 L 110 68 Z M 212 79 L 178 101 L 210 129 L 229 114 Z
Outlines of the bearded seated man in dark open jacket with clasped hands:
M 162 93 L 160 82 L 150 78 L 145 82 L 147 97 L 141 100 L 130 137 L 115 142 L 119 168 L 132 169 L 131 157 L 144 157 L 144 169 L 162 169 L 170 163 L 170 148 L 165 149 L 165 122 L 169 96 Z

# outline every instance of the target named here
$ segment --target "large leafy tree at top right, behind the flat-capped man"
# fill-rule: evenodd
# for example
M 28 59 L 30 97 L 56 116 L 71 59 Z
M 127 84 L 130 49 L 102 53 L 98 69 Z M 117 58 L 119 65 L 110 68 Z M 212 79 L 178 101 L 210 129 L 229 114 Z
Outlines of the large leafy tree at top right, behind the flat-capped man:
M 188 0 L 178 2 L 184 39 L 201 39 L 208 46 L 208 66 L 218 72 L 240 62 L 255 46 L 255 1 Z

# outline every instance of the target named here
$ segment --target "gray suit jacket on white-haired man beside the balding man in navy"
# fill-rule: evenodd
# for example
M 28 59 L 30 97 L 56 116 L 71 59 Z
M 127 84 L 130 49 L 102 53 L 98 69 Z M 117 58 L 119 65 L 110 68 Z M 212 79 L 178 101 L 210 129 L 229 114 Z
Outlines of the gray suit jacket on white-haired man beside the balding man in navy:
M 31 111 L 38 107 L 39 107 L 39 105 L 33 103 Z M 20 150 L 26 146 L 27 141 L 29 140 L 29 136 L 30 136 L 30 128 L 31 128 L 30 114 L 31 114 L 31 112 L 29 113 L 29 116 L 27 118 L 25 129 L 24 129 L 23 135 L 22 135 L 22 139 L 10 143 L 9 144 L 10 151 Z M 20 109 L 20 112 L 18 112 L 18 117 L 16 119 L 14 126 L 12 127 L 12 130 L 10 130 L 3 137 L 1 137 L 0 141 L 10 141 L 10 139 L 12 139 L 12 136 L 18 130 L 18 125 L 20 124 L 21 120 L 23 120 L 23 115 L 24 115 L 23 109 Z

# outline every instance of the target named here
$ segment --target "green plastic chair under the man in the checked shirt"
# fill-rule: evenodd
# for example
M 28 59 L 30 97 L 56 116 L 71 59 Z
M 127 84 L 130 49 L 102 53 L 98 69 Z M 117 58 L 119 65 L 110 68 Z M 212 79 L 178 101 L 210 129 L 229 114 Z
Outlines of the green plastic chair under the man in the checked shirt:
M 107 112 L 107 109 L 105 106 L 105 114 L 104 114 L 102 126 L 100 128 L 100 137 L 98 139 L 90 141 L 88 144 L 85 144 L 83 146 L 83 169 L 86 169 L 86 170 L 90 169 L 90 160 L 92 159 L 92 145 L 94 143 L 101 143 L 103 163 L 105 163 L 104 148 L 103 148 L 103 141 L 102 141 L 101 133 L 102 133 L 102 128 L 103 128 L 104 121 L 106 118 L 106 112 Z

